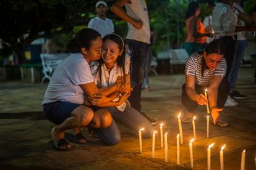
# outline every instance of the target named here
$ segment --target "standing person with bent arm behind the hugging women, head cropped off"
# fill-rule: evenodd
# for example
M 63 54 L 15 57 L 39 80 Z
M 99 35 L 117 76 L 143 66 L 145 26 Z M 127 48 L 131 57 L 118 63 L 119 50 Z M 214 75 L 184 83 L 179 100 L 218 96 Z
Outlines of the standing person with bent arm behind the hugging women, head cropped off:
M 122 7 L 126 7 L 126 11 Z M 142 83 L 145 73 L 145 62 L 147 60 L 147 49 L 150 44 L 150 25 L 148 18 L 147 4 L 143 0 L 117 0 L 111 7 L 111 11 L 128 23 L 127 44 L 130 48 L 132 63 L 131 82 L 133 91 L 129 101 L 135 110 L 141 111 L 140 97 Z M 149 118 L 142 113 L 152 124 L 156 124 L 158 119 Z

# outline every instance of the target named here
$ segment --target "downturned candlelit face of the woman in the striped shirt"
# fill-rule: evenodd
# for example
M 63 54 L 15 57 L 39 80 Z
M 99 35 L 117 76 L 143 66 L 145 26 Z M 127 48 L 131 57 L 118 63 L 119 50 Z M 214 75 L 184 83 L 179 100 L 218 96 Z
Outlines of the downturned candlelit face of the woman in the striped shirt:
M 221 60 L 223 59 L 223 55 L 220 54 L 206 54 L 204 53 L 205 56 L 205 62 L 207 64 L 207 67 L 210 69 L 215 69 L 220 65 Z

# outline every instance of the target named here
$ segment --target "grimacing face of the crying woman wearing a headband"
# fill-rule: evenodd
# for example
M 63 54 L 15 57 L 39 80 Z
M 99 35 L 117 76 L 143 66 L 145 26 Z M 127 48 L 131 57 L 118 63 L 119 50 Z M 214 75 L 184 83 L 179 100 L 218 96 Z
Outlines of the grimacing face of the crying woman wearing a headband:
M 102 46 L 102 59 L 105 63 L 114 63 L 116 62 L 119 55 L 122 55 L 122 51 L 120 51 L 118 44 L 110 39 L 106 39 L 103 42 Z

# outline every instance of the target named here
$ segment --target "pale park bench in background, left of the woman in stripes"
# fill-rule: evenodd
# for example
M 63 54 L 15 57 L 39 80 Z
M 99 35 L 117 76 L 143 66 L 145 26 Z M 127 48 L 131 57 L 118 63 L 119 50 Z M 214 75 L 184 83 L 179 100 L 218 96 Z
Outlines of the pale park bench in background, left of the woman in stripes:
M 189 54 L 187 54 L 186 49 L 171 49 L 169 52 L 170 72 L 173 73 L 174 65 L 185 66 L 188 58 Z

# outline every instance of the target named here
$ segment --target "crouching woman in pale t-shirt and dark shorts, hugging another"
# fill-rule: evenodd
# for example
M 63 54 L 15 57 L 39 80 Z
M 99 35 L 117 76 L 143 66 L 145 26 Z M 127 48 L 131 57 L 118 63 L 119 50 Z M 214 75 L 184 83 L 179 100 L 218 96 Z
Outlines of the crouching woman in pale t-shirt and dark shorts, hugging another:
M 51 136 L 53 147 L 57 150 L 71 148 L 64 139 L 64 132 L 68 129 L 74 130 L 74 140 L 77 143 L 87 142 L 80 132 L 80 128 L 85 126 L 98 128 L 98 135 L 106 144 L 112 145 L 116 143 L 113 141 L 119 141 L 111 133 L 108 136 L 103 133 L 114 123 L 110 113 L 105 109 L 85 106 L 85 95 L 109 95 L 116 91 L 116 84 L 108 89 L 98 89 L 90 72 L 88 63 L 100 59 L 101 46 L 102 39 L 97 31 L 90 28 L 80 30 L 69 41 L 67 49 L 71 54 L 54 70 L 48 84 L 42 105 L 46 118 L 56 124 L 51 130 Z

